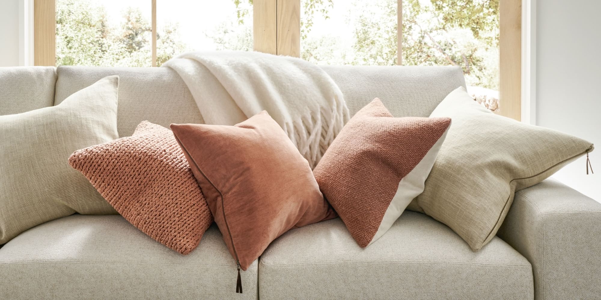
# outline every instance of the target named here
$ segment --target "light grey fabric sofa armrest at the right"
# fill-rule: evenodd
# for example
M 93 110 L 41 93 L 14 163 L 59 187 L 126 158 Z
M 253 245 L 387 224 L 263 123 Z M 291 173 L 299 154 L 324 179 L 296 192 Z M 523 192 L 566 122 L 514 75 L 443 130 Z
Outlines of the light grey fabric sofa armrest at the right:
M 516 193 L 497 235 L 532 264 L 534 299 L 601 297 L 601 203 L 547 179 Z

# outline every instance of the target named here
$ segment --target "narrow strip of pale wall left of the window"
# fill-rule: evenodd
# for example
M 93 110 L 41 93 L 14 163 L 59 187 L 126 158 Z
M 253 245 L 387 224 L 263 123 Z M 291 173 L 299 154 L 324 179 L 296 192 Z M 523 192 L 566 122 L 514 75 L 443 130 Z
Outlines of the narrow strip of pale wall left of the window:
M 19 65 L 19 2 L 0 0 L 0 67 Z

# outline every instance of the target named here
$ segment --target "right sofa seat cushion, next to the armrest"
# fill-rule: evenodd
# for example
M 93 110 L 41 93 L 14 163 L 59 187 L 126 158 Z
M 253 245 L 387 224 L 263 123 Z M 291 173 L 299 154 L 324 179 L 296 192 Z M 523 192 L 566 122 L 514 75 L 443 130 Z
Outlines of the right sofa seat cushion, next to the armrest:
M 260 299 L 533 299 L 532 267 L 499 238 L 478 252 L 405 211 L 365 249 L 338 219 L 290 230 L 259 263 Z

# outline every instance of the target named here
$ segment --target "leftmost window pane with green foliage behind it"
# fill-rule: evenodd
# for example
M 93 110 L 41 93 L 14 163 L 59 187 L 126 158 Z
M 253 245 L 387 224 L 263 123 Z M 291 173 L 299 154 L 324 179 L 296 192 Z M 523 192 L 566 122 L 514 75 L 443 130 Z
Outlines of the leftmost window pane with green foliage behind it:
M 151 2 L 56 0 L 56 64 L 151 66 Z

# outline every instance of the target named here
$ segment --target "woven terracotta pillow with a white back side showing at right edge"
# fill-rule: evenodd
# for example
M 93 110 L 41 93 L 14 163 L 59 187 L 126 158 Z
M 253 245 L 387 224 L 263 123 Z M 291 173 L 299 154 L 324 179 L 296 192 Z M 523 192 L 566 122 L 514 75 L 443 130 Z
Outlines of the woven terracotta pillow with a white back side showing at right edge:
M 380 238 L 424 182 L 450 118 L 392 118 L 379 99 L 359 110 L 313 170 L 361 247 Z

